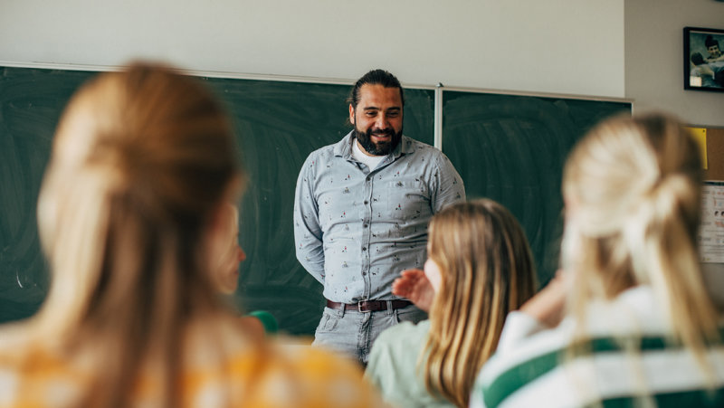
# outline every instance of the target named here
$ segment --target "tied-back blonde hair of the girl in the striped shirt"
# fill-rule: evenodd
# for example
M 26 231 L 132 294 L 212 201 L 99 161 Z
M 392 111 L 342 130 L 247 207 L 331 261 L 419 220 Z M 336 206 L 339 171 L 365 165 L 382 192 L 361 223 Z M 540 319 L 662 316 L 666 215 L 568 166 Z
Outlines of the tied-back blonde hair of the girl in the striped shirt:
M 718 335 L 696 244 L 700 185 L 696 142 L 661 114 L 605 121 L 575 147 L 563 177 L 573 213 L 562 256 L 575 272 L 568 306 L 578 327 L 591 300 L 649 285 L 673 339 L 703 365 L 704 342 Z

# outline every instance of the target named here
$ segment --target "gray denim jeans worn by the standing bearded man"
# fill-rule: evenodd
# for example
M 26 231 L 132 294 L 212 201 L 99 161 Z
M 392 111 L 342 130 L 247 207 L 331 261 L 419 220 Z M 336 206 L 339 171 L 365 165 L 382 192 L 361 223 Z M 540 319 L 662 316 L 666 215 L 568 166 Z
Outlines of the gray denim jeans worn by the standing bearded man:
M 427 318 L 427 313 L 414 305 L 395 310 L 387 306 L 376 312 L 324 308 L 312 346 L 336 350 L 367 365 L 369 350 L 383 330 L 402 321 L 417 323 Z

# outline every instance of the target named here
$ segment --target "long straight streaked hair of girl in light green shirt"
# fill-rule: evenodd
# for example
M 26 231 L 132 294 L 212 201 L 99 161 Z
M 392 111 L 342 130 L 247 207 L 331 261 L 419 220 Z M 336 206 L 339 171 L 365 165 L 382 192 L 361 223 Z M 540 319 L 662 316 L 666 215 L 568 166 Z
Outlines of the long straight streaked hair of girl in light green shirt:
M 498 346 L 506 316 L 535 291 L 533 258 L 515 217 L 487 199 L 435 214 L 429 240 L 428 257 L 439 266 L 442 282 L 419 361 L 431 394 L 468 406 L 475 376 Z

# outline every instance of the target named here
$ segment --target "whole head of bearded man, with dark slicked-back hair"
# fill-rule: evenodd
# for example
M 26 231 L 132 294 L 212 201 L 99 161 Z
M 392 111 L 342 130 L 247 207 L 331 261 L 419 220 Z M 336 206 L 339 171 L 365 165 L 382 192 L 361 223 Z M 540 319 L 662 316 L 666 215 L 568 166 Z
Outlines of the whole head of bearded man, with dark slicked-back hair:
M 395 75 L 384 70 L 367 72 L 357 80 L 348 98 L 349 122 L 354 135 L 371 156 L 385 156 L 402 139 L 405 97 Z

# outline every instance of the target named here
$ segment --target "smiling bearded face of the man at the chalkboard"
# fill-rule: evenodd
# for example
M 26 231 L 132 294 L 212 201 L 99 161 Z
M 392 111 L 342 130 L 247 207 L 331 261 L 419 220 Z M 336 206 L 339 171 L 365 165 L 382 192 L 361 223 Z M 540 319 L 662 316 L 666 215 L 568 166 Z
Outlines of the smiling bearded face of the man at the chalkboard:
M 402 139 L 402 98 L 397 88 L 366 83 L 359 88 L 359 102 L 349 105 L 355 138 L 369 156 L 386 156 Z

